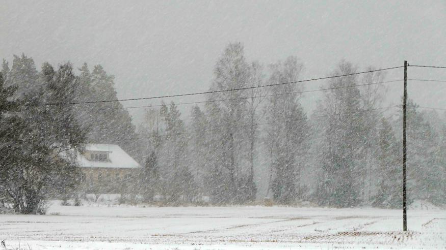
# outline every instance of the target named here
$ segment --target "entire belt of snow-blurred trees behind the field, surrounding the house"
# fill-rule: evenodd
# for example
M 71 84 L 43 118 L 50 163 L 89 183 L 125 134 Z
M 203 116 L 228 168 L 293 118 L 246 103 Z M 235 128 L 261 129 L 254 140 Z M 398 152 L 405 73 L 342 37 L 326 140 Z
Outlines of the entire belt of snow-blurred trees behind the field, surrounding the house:
M 131 203 L 401 208 L 402 107 L 383 106 L 386 71 L 340 60 L 326 74 L 347 76 L 310 89 L 296 83 L 303 67 L 296 56 L 264 65 L 228 44 L 205 101 L 191 97 L 182 114 L 161 100 L 134 124 L 100 65 L 3 60 L 0 206 L 44 213 L 48 199 L 82 197 L 82 173 L 59 156 L 110 143 L 142 166 L 122 191 Z M 307 91 L 322 93 L 311 112 Z M 446 115 L 409 99 L 407 117 L 409 203 L 445 204 Z

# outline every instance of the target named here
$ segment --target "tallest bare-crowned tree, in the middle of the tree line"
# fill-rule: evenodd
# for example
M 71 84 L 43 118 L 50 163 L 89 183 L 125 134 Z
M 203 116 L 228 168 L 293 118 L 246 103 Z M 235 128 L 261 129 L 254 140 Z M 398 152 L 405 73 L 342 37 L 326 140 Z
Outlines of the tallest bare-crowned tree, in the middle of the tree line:
M 229 44 L 217 61 L 211 90 L 237 89 L 247 86 L 249 65 L 241 43 Z M 248 178 L 246 135 L 247 107 L 244 91 L 216 92 L 209 100 L 222 100 L 206 105 L 206 113 L 212 131 L 214 161 L 211 163 L 211 191 L 214 203 L 240 203 L 246 200 Z

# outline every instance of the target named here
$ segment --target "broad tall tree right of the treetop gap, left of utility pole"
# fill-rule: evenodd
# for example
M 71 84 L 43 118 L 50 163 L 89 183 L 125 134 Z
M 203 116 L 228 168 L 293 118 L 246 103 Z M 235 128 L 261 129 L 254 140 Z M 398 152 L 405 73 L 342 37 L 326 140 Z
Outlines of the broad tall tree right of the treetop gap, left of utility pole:
M 341 61 L 334 75 L 346 75 L 355 68 Z M 318 186 L 318 199 L 321 205 L 350 207 L 359 204 L 357 162 L 365 145 L 363 119 L 361 112 L 361 93 L 355 75 L 332 78 L 328 86 L 331 90 L 324 93 L 319 112 L 326 117 L 324 148 L 320 163 L 322 175 Z

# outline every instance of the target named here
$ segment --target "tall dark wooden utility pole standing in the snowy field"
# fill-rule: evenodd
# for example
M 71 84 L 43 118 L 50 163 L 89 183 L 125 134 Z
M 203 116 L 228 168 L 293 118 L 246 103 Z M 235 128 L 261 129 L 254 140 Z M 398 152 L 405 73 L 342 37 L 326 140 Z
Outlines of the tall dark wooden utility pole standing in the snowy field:
M 404 61 L 404 93 L 403 93 L 403 231 L 407 231 L 407 201 L 406 201 L 406 161 L 407 161 L 407 61 Z

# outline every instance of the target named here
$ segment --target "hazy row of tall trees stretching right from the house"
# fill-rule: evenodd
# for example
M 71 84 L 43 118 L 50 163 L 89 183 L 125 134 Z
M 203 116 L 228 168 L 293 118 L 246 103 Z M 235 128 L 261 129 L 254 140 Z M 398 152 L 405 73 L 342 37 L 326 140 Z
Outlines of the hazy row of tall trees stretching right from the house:
M 268 67 L 250 62 L 243 45 L 233 43 L 218 59 L 209 90 L 293 82 L 302 69 L 294 56 Z M 342 60 L 329 73 L 358 71 Z M 384 79 L 385 71 L 331 78 L 311 114 L 301 104 L 303 84 L 214 92 L 192 107 L 188 124 L 173 102 L 150 108 L 138 131 L 148 145 L 145 194 L 148 200 L 164 194 L 169 204 L 203 196 L 217 205 L 253 204 L 267 197 L 288 205 L 400 208 L 402 112 L 383 108 Z M 412 100 L 409 110 L 409 203 L 444 204 L 446 116 Z M 260 166 L 267 178 L 258 177 Z M 259 186 L 266 186 L 263 193 Z

